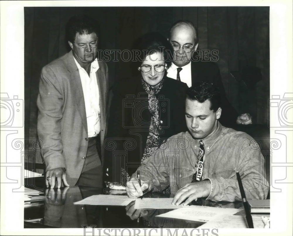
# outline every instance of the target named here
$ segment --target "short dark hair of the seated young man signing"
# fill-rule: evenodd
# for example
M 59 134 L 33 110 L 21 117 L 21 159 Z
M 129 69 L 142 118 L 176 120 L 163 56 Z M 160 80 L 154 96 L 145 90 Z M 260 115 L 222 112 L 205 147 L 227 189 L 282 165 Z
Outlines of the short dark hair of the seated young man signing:
M 196 100 L 200 103 L 209 100 L 210 110 L 216 112 L 221 105 L 221 95 L 219 88 L 209 82 L 201 82 L 188 89 L 186 99 Z

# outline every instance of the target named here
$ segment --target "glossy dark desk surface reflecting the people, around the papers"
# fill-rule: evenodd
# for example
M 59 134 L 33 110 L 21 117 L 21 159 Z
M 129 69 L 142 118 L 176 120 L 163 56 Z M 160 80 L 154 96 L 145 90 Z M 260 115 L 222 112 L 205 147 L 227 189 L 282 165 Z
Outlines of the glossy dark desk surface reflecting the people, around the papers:
M 38 178 L 41 180 L 43 178 Z M 103 189 L 72 186 L 60 190 L 44 189 L 50 194 L 50 199 L 39 201 L 37 206 L 24 209 L 24 228 L 83 228 L 83 225 L 96 225 L 96 228 L 197 228 L 202 222 L 186 221 L 172 218 L 155 217 L 173 209 L 135 210 L 134 204 L 125 206 L 91 206 L 74 205 L 86 197 L 97 194 L 107 194 Z M 168 194 L 147 193 L 146 197 L 170 197 Z M 225 208 L 241 208 L 237 202 L 213 202 L 202 199 L 202 205 Z M 237 215 L 244 215 L 240 211 Z M 139 218 L 139 222 L 137 218 Z M 85 226 L 84 226 L 85 227 Z

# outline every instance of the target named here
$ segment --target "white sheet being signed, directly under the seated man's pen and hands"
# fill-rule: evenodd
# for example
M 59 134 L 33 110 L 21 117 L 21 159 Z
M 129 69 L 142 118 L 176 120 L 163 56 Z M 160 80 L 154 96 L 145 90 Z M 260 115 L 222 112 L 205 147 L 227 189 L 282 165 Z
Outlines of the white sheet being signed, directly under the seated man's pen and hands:
M 172 205 L 173 198 L 138 198 L 134 209 L 176 209 L 189 207 L 183 205 Z

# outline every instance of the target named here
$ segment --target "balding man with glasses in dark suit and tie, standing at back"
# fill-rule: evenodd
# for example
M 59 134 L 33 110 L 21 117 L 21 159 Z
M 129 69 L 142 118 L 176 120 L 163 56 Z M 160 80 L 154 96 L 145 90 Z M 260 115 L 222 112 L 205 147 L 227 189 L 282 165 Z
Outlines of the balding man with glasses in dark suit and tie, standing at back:
M 251 124 L 252 117 L 248 114 L 238 116 L 236 110 L 226 98 L 219 67 L 210 61 L 198 61 L 193 54 L 198 46 L 197 30 L 192 22 L 179 20 L 173 24 L 169 39 L 174 48 L 172 65 L 167 70 L 167 76 L 185 82 L 188 87 L 198 85 L 201 81 L 212 82 L 219 87 L 223 116 L 220 122 L 225 126 L 235 124 Z

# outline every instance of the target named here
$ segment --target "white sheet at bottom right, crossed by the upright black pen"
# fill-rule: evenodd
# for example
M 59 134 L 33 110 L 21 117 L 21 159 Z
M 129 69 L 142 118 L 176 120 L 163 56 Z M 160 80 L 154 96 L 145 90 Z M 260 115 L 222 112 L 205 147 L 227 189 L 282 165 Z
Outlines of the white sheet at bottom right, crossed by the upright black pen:
M 253 227 L 263 228 L 264 224 L 260 216 L 252 216 Z M 198 228 L 248 228 L 245 216 L 223 215 L 215 220 L 209 221 Z

